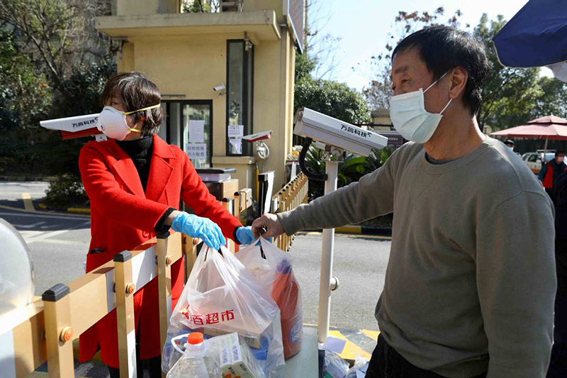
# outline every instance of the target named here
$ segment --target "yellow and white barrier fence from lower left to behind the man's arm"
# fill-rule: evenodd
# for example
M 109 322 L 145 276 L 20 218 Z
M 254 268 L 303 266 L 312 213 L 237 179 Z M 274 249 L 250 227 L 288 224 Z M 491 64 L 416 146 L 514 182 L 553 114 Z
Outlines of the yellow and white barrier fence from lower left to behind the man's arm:
M 286 211 L 307 200 L 307 178 L 289 182 L 274 196 L 276 211 Z M 230 213 L 240 216 L 251 205 L 250 191 L 223 199 Z M 280 237 L 279 248 L 288 250 L 291 238 Z M 229 242 L 235 250 L 235 244 Z M 79 279 L 56 284 L 23 308 L 0 318 L 0 372 L 3 378 L 27 377 L 47 361 L 48 376 L 74 377 L 73 340 L 116 308 L 120 377 L 136 377 L 133 296 L 157 277 L 159 330 L 164 345 L 172 313 L 171 266 L 185 259 L 186 279 L 196 260 L 196 240 L 181 233 L 165 233 L 133 250 L 116 254 Z M 163 374 L 165 376 L 165 374 Z

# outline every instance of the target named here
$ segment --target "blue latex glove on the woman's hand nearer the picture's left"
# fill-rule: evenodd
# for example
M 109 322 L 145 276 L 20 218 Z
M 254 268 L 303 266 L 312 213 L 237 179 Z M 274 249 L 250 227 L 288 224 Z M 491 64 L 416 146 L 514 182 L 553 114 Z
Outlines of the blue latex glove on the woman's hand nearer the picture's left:
M 208 218 L 201 218 L 195 214 L 179 213 L 173 220 L 172 228 L 178 233 L 185 233 L 191 238 L 201 238 L 209 248 L 218 250 L 226 244 L 223 231 Z

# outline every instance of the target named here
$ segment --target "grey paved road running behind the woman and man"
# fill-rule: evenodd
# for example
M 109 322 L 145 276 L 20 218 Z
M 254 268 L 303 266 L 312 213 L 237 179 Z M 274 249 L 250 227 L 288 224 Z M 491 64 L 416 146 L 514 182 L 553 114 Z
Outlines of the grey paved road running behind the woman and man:
M 47 184 L 0 182 L 0 205 L 23 209 L 22 193 L 41 198 Z M 35 294 L 84 274 L 90 220 L 84 216 L 25 213 L 0 208 L 29 245 L 35 266 Z M 389 241 L 337 235 L 334 276 L 340 287 L 332 294 L 332 326 L 377 330 L 374 307 L 380 295 L 390 253 Z M 305 323 L 317 323 L 321 235 L 298 235 L 291 248 L 294 270 L 303 292 Z

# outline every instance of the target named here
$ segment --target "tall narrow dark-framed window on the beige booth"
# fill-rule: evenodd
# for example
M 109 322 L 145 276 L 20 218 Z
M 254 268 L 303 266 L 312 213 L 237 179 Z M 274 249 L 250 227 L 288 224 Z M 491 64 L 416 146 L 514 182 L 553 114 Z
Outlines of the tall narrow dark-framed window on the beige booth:
M 227 41 L 226 155 L 252 156 L 242 135 L 252 134 L 254 46 L 245 40 Z

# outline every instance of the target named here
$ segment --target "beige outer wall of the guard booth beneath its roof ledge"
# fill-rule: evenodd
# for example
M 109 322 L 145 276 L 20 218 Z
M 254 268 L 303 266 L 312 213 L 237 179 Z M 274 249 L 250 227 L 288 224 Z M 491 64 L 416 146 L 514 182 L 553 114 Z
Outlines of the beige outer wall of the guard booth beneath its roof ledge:
M 179 100 L 212 100 L 213 166 L 235 167 L 233 177 L 240 187 L 254 187 L 254 157 L 225 157 L 226 97 L 213 91 L 221 82 L 226 84 L 226 40 L 243 37 L 243 33 L 130 37 L 118 70 L 145 72 L 162 94 L 184 94 Z M 274 132 L 266 141 L 271 152 L 266 170 L 276 171 L 278 189 L 285 183 L 285 160 L 291 151 L 295 51 L 288 33 L 282 33 L 281 40 L 255 42 L 253 130 Z

